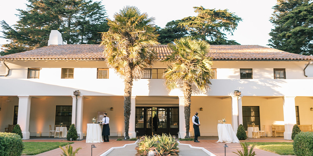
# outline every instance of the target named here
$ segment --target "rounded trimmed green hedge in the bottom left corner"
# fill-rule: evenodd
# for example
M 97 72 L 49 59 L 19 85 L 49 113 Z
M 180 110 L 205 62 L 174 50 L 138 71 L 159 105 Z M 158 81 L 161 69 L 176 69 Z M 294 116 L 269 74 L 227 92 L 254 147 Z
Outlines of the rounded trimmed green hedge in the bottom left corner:
M 20 156 L 23 149 L 24 144 L 18 134 L 0 132 L 0 156 Z

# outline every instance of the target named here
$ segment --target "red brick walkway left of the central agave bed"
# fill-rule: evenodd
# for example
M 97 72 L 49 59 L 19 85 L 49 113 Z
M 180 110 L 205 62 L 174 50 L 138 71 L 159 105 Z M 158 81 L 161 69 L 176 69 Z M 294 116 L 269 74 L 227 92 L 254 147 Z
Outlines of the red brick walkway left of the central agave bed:
M 24 142 L 68 142 L 66 140 L 24 140 Z M 74 141 L 74 144 L 71 144 L 73 146 L 73 149 L 76 149 L 77 147 L 81 147 L 83 149 L 80 149 L 78 154 L 76 156 L 86 156 L 91 155 L 91 145 L 95 144 L 97 148 L 92 149 L 92 155 L 93 156 L 99 156 L 111 147 L 120 147 L 124 146 L 125 144 L 132 144 L 135 143 L 135 141 L 116 141 L 116 140 L 110 140 L 110 142 L 105 143 L 86 143 L 86 140 L 82 141 Z M 64 148 L 64 147 L 63 147 Z M 41 154 L 37 154 L 36 156 L 60 156 L 62 154 L 62 150 L 60 148 L 54 149 L 48 152 L 44 152 Z

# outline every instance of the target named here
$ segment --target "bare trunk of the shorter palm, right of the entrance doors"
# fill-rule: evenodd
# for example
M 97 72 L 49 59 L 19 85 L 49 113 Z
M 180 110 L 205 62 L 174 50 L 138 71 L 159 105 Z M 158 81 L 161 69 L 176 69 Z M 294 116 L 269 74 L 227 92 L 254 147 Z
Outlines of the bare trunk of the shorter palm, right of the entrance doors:
M 191 94 L 192 88 L 191 85 L 184 81 L 184 113 L 185 113 L 185 124 L 186 124 L 186 136 L 185 138 L 190 138 L 189 130 L 190 130 L 190 105 L 191 105 Z

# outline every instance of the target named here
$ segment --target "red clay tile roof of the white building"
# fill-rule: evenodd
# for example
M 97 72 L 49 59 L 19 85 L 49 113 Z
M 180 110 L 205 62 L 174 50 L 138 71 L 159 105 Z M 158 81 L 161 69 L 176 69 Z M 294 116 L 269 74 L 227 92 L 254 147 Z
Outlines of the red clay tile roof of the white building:
M 156 47 L 159 60 L 172 53 L 167 45 Z M 99 45 L 50 45 L 31 51 L 1 56 L 0 60 L 103 60 Z M 213 60 L 313 60 L 305 56 L 258 45 L 211 45 Z

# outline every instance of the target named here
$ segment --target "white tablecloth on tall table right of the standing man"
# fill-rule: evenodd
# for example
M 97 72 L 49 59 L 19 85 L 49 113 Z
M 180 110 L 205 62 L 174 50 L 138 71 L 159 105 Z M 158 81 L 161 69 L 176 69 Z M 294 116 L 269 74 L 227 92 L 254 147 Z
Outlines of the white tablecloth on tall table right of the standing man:
M 217 143 L 239 143 L 239 140 L 233 131 L 231 124 L 218 124 L 218 141 Z

